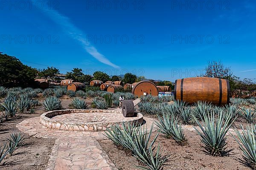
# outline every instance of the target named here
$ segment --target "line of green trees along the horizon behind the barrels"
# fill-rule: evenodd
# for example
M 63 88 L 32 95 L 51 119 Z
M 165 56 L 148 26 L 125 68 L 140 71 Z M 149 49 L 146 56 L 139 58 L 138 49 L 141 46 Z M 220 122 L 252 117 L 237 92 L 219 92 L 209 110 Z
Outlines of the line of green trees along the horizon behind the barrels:
M 52 81 L 60 81 L 60 71 L 54 67 L 47 67 L 46 69 L 36 69 L 28 65 L 24 65 L 16 57 L 9 56 L 7 54 L 0 53 L 0 86 L 5 87 L 29 87 L 32 86 L 36 78 L 50 79 Z M 256 84 L 252 79 L 240 79 L 233 75 L 232 70 L 229 67 L 224 67 L 221 62 L 209 62 L 205 68 L 205 74 L 201 77 L 212 77 L 228 79 L 230 81 L 230 95 L 235 97 L 241 97 L 244 95 L 252 95 L 256 93 Z M 146 79 L 144 76 L 137 77 L 134 74 L 126 73 L 124 77 L 112 76 L 102 71 L 96 71 L 93 76 L 84 74 L 81 68 L 73 68 L 72 71 L 67 72 L 66 79 L 73 79 L 77 82 L 82 82 L 86 85 L 90 84 L 90 81 L 101 80 L 106 81 L 122 81 L 124 83 L 132 84 L 134 82 L 140 82 L 148 80 L 154 82 L 156 85 L 168 85 L 174 89 L 174 83 L 170 81 L 155 82 L 153 79 Z

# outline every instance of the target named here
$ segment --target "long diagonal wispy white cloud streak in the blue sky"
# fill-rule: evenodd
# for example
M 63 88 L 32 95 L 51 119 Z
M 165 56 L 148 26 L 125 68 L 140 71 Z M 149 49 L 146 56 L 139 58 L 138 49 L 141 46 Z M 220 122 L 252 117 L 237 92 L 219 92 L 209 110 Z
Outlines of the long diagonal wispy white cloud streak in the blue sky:
M 65 17 L 56 10 L 49 10 L 47 8 L 44 8 L 43 11 L 49 16 L 49 18 L 51 18 L 55 23 L 61 26 L 65 34 L 68 34 L 74 40 L 80 42 L 81 46 L 99 62 L 110 65 L 113 68 L 119 68 L 118 65 L 113 64 L 103 54 L 100 54 L 99 51 L 86 40 L 83 31 L 73 25 L 68 17 Z

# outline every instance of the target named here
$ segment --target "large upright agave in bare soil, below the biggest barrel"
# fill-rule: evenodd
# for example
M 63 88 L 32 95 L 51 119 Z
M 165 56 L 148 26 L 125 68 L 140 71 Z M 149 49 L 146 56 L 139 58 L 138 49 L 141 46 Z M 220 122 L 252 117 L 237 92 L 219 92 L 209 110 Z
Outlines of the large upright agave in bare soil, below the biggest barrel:
M 227 117 L 225 123 L 222 111 L 218 113 L 216 121 L 212 111 L 204 113 L 203 116 L 204 121 L 202 124 L 195 118 L 202 132 L 195 126 L 194 128 L 198 135 L 201 136 L 201 142 L 204 144 L 205 149 L 204 152 L 212 156 L 228 156 L 233 149 L 227 150 L 227 137 L 225 135 L 233 123 L 230 120 L 231 116 Z

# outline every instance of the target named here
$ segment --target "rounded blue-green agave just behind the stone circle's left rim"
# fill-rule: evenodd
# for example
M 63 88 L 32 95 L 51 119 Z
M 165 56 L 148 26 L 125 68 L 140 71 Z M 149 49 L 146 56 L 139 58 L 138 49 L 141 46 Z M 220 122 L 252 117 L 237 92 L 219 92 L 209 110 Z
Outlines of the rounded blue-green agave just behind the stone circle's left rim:
M 46 111 L 56 111 L 61 109 L 61 100 L 57 97 L 49 96 L 47 97 L 44 102 L 44 109 Z

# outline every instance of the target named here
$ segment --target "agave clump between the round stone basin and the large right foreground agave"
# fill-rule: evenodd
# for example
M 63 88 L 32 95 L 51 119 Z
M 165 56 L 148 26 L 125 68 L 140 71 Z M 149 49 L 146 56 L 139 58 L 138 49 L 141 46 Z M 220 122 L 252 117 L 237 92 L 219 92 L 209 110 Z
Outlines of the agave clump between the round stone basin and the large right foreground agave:
M 163 119 L 157 115 L 159 122 L 154 122 L 160 129 L 160 133 L 166 138 L 174 139 L 178 144 L 183 145 L 187 139 L 183 132 L 181 124 L 178 125 L 177 120 L 173 115 L 163 113 Z

